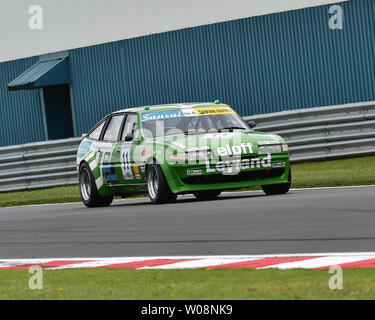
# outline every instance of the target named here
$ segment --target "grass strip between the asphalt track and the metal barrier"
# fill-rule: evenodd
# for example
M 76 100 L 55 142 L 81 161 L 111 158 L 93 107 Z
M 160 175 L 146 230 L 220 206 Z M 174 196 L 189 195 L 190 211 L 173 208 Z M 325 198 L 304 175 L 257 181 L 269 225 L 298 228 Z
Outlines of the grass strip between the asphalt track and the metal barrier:
M 293 188 L 369 185 L 375 183 L 375 156 L 294 164 L 292 170 Z M 0 207 L 74 201 L 81 201 L 78 186 L 0 193 Z

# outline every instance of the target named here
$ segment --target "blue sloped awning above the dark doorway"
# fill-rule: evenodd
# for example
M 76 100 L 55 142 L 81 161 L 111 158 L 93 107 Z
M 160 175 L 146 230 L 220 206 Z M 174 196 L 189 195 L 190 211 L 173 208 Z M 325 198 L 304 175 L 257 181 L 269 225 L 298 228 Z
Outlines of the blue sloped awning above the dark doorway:
M 70 82 L 68 58 L 41 60 L 11 83 L 8 90 L 35 89 Z

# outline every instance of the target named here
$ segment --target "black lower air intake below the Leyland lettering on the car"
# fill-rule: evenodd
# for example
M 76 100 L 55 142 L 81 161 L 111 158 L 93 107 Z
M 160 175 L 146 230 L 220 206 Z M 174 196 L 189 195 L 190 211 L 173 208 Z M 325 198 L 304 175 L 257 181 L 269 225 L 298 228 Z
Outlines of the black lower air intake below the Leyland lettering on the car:
M 284 174 L 285 168 L 243 171 L 235 175 L 210 174 L 206 176 L 194 176 L 182 179 L 186 184 L 195 183 L 225 183 L 225 182 L 243 182 L 264 178 L 279 177 Z

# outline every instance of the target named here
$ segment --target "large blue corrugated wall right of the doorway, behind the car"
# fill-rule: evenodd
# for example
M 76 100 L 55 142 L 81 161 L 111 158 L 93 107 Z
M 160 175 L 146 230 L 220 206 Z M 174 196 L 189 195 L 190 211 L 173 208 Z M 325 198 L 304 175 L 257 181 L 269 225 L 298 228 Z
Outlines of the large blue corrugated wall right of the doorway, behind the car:
M 343 30 L 328 5 L 72 50 L 78 133 L 129 106 L 220 99 L 251 115 L 375 100 L 374 2 L 340 5 Z

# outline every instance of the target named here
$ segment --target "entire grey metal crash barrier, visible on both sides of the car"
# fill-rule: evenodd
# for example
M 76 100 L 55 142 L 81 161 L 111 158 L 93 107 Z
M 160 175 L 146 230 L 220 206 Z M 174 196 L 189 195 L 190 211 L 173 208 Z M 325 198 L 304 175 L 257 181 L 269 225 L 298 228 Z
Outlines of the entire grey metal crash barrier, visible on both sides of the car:
M 375 154 L 375 102 L 245 117 L 256 130 L 276 133 L 290 146 L 292 162 Z M 78 183 L 81 138 L 0 148 L 0 192 Z

